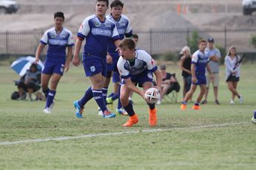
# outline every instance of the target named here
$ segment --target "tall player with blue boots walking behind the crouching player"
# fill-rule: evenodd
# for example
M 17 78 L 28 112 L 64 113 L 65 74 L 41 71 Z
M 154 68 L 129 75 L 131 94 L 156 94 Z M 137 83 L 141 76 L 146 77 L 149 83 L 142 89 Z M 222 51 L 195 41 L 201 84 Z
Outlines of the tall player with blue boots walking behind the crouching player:
M 114 113 L 110 113 L 107 110 L 102 89 L 107 76 L 107 49 L 111 42 L 114 42 L 115 46 L 119 46 L 120 43 L 115 24 L 105 17 L 108 6 L 108 0 L 97 0 L 95 14 L 84 19 L 77 33 L 78 38 L 75 42 L 73 65 L 78 66 L 80 63 L 78 54 L 82 41 L 86 38 L 83 65 L 86 76 L 90 77 L 90 81 L 92 82 L 92 87 L 87 89 L 84 96 L 74 102 L 75 115 L 78 118 L 83 117 L 83 107 L 92 97 L 94 97 L 98 107 L 101 108 L 104 118 L 115 117 Z

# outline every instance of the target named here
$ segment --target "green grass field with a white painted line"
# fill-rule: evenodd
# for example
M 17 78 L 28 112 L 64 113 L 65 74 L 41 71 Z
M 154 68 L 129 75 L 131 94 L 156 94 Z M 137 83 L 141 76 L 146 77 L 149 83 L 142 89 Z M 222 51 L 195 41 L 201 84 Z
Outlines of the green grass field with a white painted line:
M 168 70 L 182 82 L 176 65 Z M 42 112 L 44 102 L 10 100 L 18 75 L 0 66 L 0 169 L 255 169 L 255 65 L 242 67 L 243 105 L 229 105 L 224 66 L 220 70 L 221 105 L 211 88 L 209 104 L 199 111 L 157 106 L 158 126 L 149 127 L 146 104 L 135 95 L 140 121 L 124 128 L 127 117 L 101 118 L 93 100 L 84 118 L 75 117 L 73 101 L 90 85 L 81 66 L 61 79 L 50 115 Z

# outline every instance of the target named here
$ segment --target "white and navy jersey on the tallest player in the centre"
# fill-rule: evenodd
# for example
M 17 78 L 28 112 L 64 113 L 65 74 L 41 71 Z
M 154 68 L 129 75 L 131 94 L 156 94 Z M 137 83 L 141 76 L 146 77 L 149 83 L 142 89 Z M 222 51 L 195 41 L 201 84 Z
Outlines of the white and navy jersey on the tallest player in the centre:
M 95 14 L 84 19 L 77 35 L 86 38 L 84 56 L 106 57 L 110 43 L 120 39 L 115 24 L 107 18 L 102 22 Z

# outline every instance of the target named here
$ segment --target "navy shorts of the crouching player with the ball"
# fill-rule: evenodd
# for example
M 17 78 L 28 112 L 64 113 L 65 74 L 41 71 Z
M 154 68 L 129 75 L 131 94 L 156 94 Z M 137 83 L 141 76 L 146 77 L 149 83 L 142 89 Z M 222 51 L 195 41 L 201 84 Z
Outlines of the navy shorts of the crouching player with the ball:
M 136 76 L 130 76 L 132 82 L 135 82 L 138 87 L 142 88 L 144 82 L 153 82 L 153 74 L 152 72 L 147 72 L 146 74 L 140 74 Z M 124 79 L 122 79 L 121 85 L 124 85 Z

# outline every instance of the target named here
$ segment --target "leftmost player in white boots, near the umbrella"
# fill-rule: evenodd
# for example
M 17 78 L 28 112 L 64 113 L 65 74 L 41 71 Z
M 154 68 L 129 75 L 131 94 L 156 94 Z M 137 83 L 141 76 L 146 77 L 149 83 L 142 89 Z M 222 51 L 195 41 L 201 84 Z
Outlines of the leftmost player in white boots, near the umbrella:
M 59 80 L 65 72 L 69 70 L 70 61 L 73 53 L 73 34 L 70 30 L 63 27 L 64 13 L 54 13 L 55 26 L 44 32 L 36 49 L 36 63 L 38 63 L 40 54 L 44 46 L 48 44 L 47 57 L 44 63 L 44 69 L 41 71 L 41 87 L 44 95 L 47 97 L 44 113 L 52 113 L 53 99 L 56 94 L 56 88 Z M 66 60 L 67 48 L 67 60 Z M 48 83 L 52 77 L 50 88 Z

